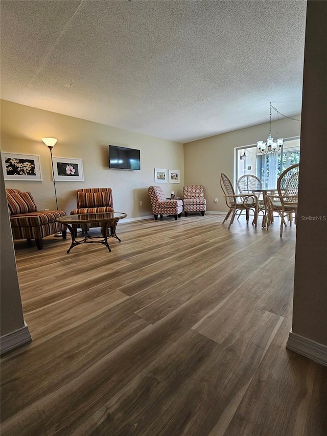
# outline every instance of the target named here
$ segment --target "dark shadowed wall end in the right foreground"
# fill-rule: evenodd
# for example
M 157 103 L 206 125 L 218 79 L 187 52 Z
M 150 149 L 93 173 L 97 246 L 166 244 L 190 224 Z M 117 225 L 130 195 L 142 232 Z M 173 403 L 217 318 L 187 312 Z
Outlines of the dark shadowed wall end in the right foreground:
M 327 3 L 308 2 L 292 332 L 327 346 Z M 314 144 L 315 153 L 311 153 Z M 302 219 L 302 217 L 304 219 Z M 310 219 L 321 217 L 319 219 Z M 307 218 L 307 219 L 306 219 Z

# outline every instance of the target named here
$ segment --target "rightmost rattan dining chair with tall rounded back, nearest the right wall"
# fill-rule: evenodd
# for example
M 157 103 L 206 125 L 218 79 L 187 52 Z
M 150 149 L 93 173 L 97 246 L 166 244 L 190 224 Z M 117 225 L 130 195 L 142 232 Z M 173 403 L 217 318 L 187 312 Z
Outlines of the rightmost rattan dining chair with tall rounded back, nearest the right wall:
M 270 223 L 274 212 L 277 212 L 281 217 L 281 231 L 279 235 L 283 236 L 283 229 L 286 226 L 285 218 L 290 221 L 290 226 L 293 221 L 293 214 L 295 216 L 295 224 L 297 219 L 297 193 L 298 193 L 298 173 L 299 164 L 292 165 L 287 168 L 278 177 L 277 191 L 278 195 L 267 195 L 268 217 L 267 217 L 267 230 L 269 230 Z

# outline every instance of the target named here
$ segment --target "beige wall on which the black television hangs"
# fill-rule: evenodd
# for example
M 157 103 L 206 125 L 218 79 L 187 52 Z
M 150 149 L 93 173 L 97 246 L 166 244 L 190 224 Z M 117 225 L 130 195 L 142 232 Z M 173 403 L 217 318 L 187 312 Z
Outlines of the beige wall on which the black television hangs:
M 152 215 L 148 187 L 154 185 L 154 168 L 180 170 L 180 183 L 160 183 L 167 195 L 182 196 L 183 145 L 104 124 L 67 117 L 8 101 L 1 101 L 1 151 L 40 156 L 42 181 L 6 181 L 6 188 L 30 191 L 40 210 L 55 209 L 50 151 L 41 138 L 58 142 L 54 157 L 83 159 L 84 182 L 57 181 L 59 209 L 76 208 L 76 190 L 110 187 L 114 209 L 128 218 Z M 110 170 L 108 144 L 141 150 L 141 171 Z M 139 206 L 143 201 L 143 206 Z

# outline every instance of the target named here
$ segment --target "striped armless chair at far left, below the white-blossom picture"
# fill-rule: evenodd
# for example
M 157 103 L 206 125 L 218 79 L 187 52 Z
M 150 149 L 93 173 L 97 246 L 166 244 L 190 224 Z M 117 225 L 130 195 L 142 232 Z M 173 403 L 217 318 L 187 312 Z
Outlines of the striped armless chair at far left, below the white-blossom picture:
M 30 192 L 6 189 L 6 195 L 13 239 L 35 239 L 38 250 L 43 248 L 45 236 L 61 232 L 66 239 L 66 226 L 56 220 L 66 215 L 64 211 L 38 212 Z

